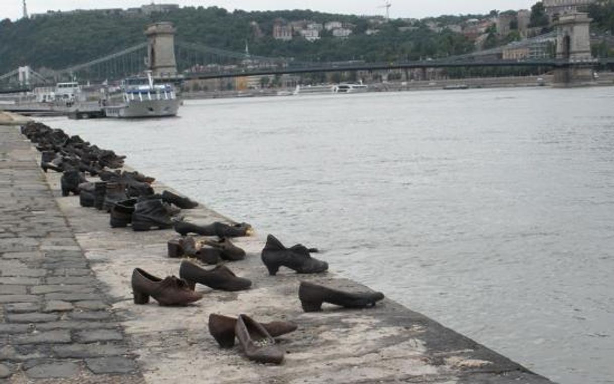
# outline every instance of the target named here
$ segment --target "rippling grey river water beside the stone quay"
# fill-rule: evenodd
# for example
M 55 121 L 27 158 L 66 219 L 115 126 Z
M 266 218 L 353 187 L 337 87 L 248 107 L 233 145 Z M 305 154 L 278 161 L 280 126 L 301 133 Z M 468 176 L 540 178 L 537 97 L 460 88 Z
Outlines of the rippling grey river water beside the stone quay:
M 614 88 L 48 119 L 561 383 L 614 382 Z

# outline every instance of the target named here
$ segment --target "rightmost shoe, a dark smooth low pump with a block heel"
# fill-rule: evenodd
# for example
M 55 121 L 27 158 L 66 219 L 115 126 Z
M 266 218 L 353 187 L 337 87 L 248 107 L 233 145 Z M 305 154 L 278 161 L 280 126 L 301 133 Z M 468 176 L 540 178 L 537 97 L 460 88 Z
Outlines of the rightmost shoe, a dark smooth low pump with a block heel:
M 344 292 L 323 285 L 301 282 L 298 288 L 298 298 L 305 312 L 317 312 L 322 310 L 322 302 L 346 308 L 373 307 L 376 302 L 384 299 L 384 294 L 381 292 Z

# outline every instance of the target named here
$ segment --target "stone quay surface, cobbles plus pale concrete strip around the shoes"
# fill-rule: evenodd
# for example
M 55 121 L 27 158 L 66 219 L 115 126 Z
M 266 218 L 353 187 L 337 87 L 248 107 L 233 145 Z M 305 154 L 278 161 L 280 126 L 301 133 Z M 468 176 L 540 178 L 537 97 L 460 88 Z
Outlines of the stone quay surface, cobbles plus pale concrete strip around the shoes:
M 43 174 L 38 161 L 16 128 L 0 126 L 0 378 L 7 383 L 550 383 L 389 299 L 372 309 L 303 312 L 300 280 L 368 288 L 333 272 L 269 276 L 260 261 L 266 234 L 236 239 L 247 257 L 228 263 L 252 280 L 251 290 L 197 285 L 204 298 L 188 307 L 135 305 L 134 267 L 178 274 L 179 261 L 166 256 L 176 234 L 112 229 L 107 213 L 61 197 L 60 174 Z M 231 222 L 203 206 L 182 213 L 196 223 Z M 298 330 L 278 340 L 287 351 L 281 366 L 256 364 L 237 346 L 217 346 L 210 313 L 290 320 Z

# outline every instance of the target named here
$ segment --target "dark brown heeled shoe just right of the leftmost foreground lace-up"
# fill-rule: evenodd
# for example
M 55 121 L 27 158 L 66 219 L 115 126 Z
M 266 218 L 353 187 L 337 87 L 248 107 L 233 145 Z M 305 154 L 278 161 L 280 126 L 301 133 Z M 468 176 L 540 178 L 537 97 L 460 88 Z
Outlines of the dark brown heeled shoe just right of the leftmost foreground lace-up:
M 217 266 L 206 271 L 189 261 L 181 263 L 179 277 L 184 279 L 192 290 L 195 288 L 196 283 L 221 291 L 243 291 L 252 286 L 250 280 L 238 277 L 226 266 Z

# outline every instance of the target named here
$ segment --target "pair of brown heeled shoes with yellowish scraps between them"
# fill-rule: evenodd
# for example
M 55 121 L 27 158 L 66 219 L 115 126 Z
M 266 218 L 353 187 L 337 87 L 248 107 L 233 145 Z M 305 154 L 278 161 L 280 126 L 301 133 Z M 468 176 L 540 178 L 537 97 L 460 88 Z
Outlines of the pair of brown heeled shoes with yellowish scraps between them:
M 184 236 L 169 240 L 167 245 L 169 258 L 189 256 L 206 264 L 217 264 L 220 260 L 243 260 L 246 255 L 245 251 L 233 244 L 228 237 L 198 241 L 192 236 Z

